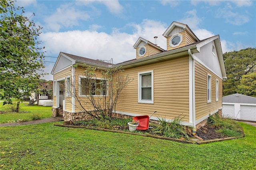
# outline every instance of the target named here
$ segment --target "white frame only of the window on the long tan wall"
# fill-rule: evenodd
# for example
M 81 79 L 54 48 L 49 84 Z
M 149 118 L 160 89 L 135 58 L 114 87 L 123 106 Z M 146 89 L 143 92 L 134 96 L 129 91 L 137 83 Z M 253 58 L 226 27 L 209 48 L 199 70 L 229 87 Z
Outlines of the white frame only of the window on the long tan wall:
M 151 74 L 151 100 L 142 99 L 142 75 Z M 154 104 L 154 70 L 138 72 L 138 103 Z

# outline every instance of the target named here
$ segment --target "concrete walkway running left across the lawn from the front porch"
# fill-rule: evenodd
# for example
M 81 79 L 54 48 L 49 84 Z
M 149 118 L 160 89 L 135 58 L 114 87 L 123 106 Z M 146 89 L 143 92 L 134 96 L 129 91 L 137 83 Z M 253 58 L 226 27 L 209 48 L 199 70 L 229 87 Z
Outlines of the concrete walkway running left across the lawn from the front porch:
M 20 123 L 0 123 L 0 127 L 18 126 L 18 125 L 31 125 L 31 124 L 48 123 L 48 122 L 55 122 L 55 121 L 62 121 L 62 117 L 47 117 L 47 118 L 44 118 L 44 119 L 24 121 L 24 122 L 20 122 Z

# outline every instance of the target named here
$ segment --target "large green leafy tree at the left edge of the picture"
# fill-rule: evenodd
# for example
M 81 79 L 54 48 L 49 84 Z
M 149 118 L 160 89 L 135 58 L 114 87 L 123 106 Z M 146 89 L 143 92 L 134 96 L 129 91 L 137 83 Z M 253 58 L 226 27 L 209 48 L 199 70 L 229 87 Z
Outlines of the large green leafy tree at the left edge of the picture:
M 38 70 L 44 68 L 37 40 L 42 27 L 23 16 L 24 8 L 12 0 L 0 0 L 0 98 L 12 104 L 38 89 Z

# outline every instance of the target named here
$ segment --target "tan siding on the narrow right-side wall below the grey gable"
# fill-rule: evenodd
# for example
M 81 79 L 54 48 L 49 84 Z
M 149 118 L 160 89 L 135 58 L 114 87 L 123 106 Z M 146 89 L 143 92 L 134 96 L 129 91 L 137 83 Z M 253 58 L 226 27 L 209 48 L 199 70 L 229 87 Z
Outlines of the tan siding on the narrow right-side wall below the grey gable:
M 211 102 L 207 103 L 207 74 L 211 75 Z M 216 102 L 216 79 L 219 80 L 219 96 Z M 222 79 L 195 61 L 196 120 L 222 107 Z

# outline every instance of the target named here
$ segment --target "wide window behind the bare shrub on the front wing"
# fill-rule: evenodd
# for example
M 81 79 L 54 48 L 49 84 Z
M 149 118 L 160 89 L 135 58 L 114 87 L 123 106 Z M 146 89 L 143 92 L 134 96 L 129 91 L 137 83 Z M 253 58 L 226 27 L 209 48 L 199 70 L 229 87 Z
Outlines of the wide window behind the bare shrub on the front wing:
M 79 77 L 80 79 L 80 96 L 97 95 L 103 96 L 107 94 L 106 80 L 102 79 L 88 79 Z

